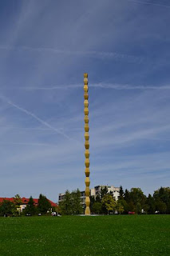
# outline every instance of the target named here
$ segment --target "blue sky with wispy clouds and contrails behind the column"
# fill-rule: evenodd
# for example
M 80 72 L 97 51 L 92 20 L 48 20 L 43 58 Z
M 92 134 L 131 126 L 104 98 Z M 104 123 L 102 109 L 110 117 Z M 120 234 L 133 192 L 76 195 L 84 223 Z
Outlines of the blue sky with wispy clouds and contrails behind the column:
M 0 2 L 0 196 L 170 180 L 168 1 Z

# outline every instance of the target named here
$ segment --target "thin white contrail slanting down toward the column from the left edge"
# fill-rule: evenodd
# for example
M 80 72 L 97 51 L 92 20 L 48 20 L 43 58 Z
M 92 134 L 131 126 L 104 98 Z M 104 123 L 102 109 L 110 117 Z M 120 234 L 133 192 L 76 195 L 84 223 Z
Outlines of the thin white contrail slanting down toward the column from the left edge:
M 13 106 L 16 109 L 21 110 L 23 113 L 30 115 L 32 118 L 36 119 L 38 122 L 41 122 L 44 126 L 48 127 L 49 129 L 56 131 L 57 134 L 61 134 L 65 138 L 70 139 L 69 136 L 67 136 L 65 133 L 63 133 L 60 130 L 58 130 L 57 128 L 49 125 L 48 122 L 45 122 L 44 120 L 42 120 L 42 118 L 39 118 L 36 114 L 22 108 L 21 106 L 14 104 L 14 102 L 11 102 L 9 98 L 6 98 L 5 96 L 2 96 L 2 95 L 0 95 L 0 98 L 2 99 L 2 101 L 8 103 L 10 106 Z

